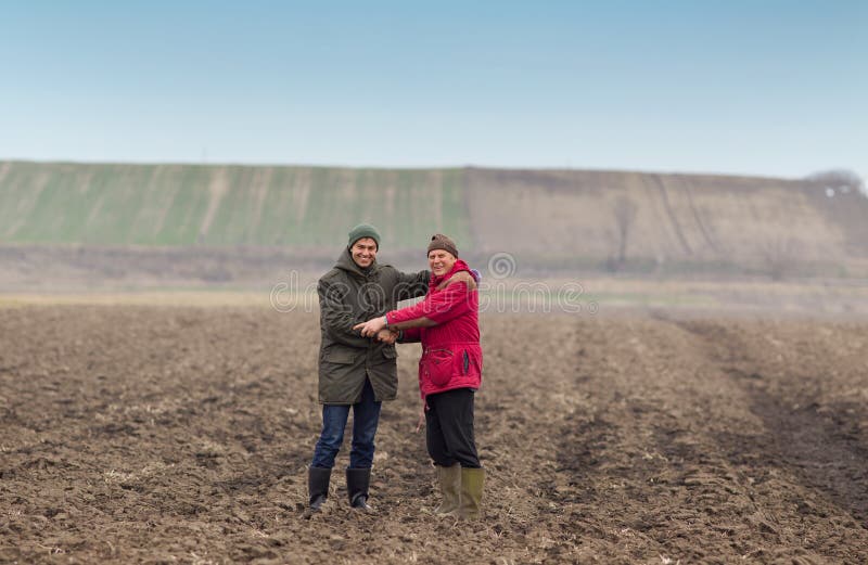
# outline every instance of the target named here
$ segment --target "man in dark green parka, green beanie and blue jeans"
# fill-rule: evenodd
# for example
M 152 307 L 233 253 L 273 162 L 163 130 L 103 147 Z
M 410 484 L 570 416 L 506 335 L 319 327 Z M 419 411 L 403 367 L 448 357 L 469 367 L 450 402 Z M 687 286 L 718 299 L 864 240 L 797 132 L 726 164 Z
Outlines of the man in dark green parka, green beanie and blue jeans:
M 308 468 L 310 510 L 318 511 L 329 496 L 334 459 L 344 440 L 353 409 L 353 444 L 346 486 L 349 504 L 369 511 L 368 487 L 373 463 L 374 435 L 383 400 L 398 393 L 397 333 L 384 330 L 362 337 L 353 326 L 394 310 L 398 300 L 424 296 L 429 271 L 403 273 L 379 265 L 380 232 L 361 223 L 349 232 L 347 247 L 334 268 L 317 284 L 320 308 L 319 401 L 322 433 Z

